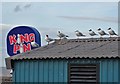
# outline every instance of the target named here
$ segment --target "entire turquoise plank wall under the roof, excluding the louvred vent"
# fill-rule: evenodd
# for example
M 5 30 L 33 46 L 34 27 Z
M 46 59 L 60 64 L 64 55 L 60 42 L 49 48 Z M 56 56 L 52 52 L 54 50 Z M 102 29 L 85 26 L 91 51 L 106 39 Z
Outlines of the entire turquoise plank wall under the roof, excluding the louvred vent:
M 68 63 L 99 64 L 100 82 L 120 82 L 120 59 L 14 61 L 13 82 L 68 82 Z

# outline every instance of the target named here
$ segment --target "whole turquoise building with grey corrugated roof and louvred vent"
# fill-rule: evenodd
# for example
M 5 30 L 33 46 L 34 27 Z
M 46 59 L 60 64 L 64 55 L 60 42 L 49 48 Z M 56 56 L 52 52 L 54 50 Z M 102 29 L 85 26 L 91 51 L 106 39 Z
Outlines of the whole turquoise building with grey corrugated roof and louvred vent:
M 120 83 L 120 39 L 56 40 L 50 45 L 6 58 L 13 82 Z

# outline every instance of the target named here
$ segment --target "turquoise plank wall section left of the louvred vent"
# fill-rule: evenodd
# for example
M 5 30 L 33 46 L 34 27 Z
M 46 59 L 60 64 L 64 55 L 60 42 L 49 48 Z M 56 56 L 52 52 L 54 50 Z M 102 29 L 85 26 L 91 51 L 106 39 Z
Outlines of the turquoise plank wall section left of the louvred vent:
M 14 64 L 14 82 L 67 82 L 65 60 L 24 60 Z

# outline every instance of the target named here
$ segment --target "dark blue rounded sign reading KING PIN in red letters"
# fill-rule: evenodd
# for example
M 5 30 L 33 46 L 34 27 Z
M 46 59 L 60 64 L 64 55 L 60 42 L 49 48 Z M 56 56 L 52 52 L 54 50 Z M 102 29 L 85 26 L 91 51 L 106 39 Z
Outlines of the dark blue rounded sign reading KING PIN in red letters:
M 17 26 L 7 35 L 7 52 L 13 56 L 41 46 L 39 32 L 29 26 Z

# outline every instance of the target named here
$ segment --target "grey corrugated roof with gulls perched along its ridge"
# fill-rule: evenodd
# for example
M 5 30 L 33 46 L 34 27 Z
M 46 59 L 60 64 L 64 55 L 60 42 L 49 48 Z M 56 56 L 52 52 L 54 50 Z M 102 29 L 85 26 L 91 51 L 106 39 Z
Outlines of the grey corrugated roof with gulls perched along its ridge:
M 6 62 L 20 59 L 120 58 L 119 44 L 120 37 L 55 40 L 50 45 L 6 58 Z

